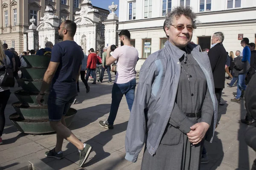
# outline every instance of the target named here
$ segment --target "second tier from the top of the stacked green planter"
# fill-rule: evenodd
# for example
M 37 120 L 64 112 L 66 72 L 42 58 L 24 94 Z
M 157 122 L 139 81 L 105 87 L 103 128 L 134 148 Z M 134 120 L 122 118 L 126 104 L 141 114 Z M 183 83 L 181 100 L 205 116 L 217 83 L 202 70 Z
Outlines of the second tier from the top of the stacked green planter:
M 43 81 L 46 70 L 47 68 L 20 68 L 23 76 L 26 77 L 28 81 Z

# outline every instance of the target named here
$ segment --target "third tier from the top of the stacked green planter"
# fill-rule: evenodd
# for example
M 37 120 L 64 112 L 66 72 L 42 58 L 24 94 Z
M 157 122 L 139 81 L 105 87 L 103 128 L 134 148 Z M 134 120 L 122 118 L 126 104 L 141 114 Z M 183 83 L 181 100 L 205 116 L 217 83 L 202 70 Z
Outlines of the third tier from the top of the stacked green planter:
M 26 81 L 24 79 L 17 79 L 17 82 L 23 88 L 24 91 L 32 93 L 39 93 L 43 83 L 42 81 Z M 47 89 L 46 92 L 49 92 L 49 89 Z

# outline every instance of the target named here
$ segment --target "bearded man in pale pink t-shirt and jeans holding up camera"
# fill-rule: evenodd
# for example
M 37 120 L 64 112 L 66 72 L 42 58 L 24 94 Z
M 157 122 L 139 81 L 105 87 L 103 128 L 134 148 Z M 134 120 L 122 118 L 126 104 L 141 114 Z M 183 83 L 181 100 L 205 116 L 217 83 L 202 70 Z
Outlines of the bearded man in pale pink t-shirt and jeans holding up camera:
M 139 59 L 138 51 L 131 45 L 131 34 L 128 30 L 119 33 L 121 47 L 116 48 L 110 55 L 111 46 L 107 49 L 106 65 L 111 65 L 118 60 L 118 70 L 112 88 L 112 103 L 108 120 L 99 121 L 99 124 L 107 129 L 112 129 L 122 96 L 125 95 L 128 108 L 131 111 L 134 102 L 136 87 L 135 66 Z

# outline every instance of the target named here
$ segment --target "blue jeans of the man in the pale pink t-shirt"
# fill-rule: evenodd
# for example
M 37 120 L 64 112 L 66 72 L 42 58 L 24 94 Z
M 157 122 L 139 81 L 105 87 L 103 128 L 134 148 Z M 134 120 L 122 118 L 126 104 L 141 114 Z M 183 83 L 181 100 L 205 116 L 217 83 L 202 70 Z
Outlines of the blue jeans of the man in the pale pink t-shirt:
M 131 80 L 130 82 L 124 84 L 114 83 L 112 88 L 112 102 L 110 113 L 108 116 L 108 124 L 113 125 L 116 119 L 116 114 L 119 108 L 119 104 L 122 100 L 122 96 L 125 95 L 128 108 L 131 112 L 131 108 L 134 102 L 134 93 L 136 87 L 136 79 Z

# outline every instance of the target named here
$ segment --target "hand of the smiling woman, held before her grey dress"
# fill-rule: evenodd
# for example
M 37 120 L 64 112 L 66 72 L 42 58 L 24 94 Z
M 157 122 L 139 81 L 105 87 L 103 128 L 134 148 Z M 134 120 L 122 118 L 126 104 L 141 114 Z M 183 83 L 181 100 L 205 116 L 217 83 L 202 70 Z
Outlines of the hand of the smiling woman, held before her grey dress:
M 187 133 L 189 141 L 195 145 L 204 139 L 205 133 L 209 129 L 210 125 L 206 122 L 196 123 L 192 127 L 190 127 L 190 132 Z

